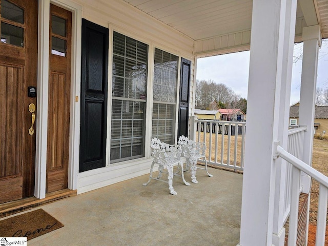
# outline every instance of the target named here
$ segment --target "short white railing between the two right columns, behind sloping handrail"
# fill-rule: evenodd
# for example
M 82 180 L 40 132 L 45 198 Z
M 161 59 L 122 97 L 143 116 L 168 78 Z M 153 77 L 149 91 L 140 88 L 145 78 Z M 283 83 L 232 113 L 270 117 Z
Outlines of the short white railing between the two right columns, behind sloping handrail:
M 298 159 L 302 158 L 304 132 L 306 127 L 293 128 L 288 131 L 288 152 Z M 291 207 L 291 185 L 292 185 L 292 169 L 293 166 L 290 163 L 285 165 L 285 194 L 284 194 L 284 210 L 283 221 L 286 222 L 289 216 Z M 300 193 L 299 193 L 300 194 Z

